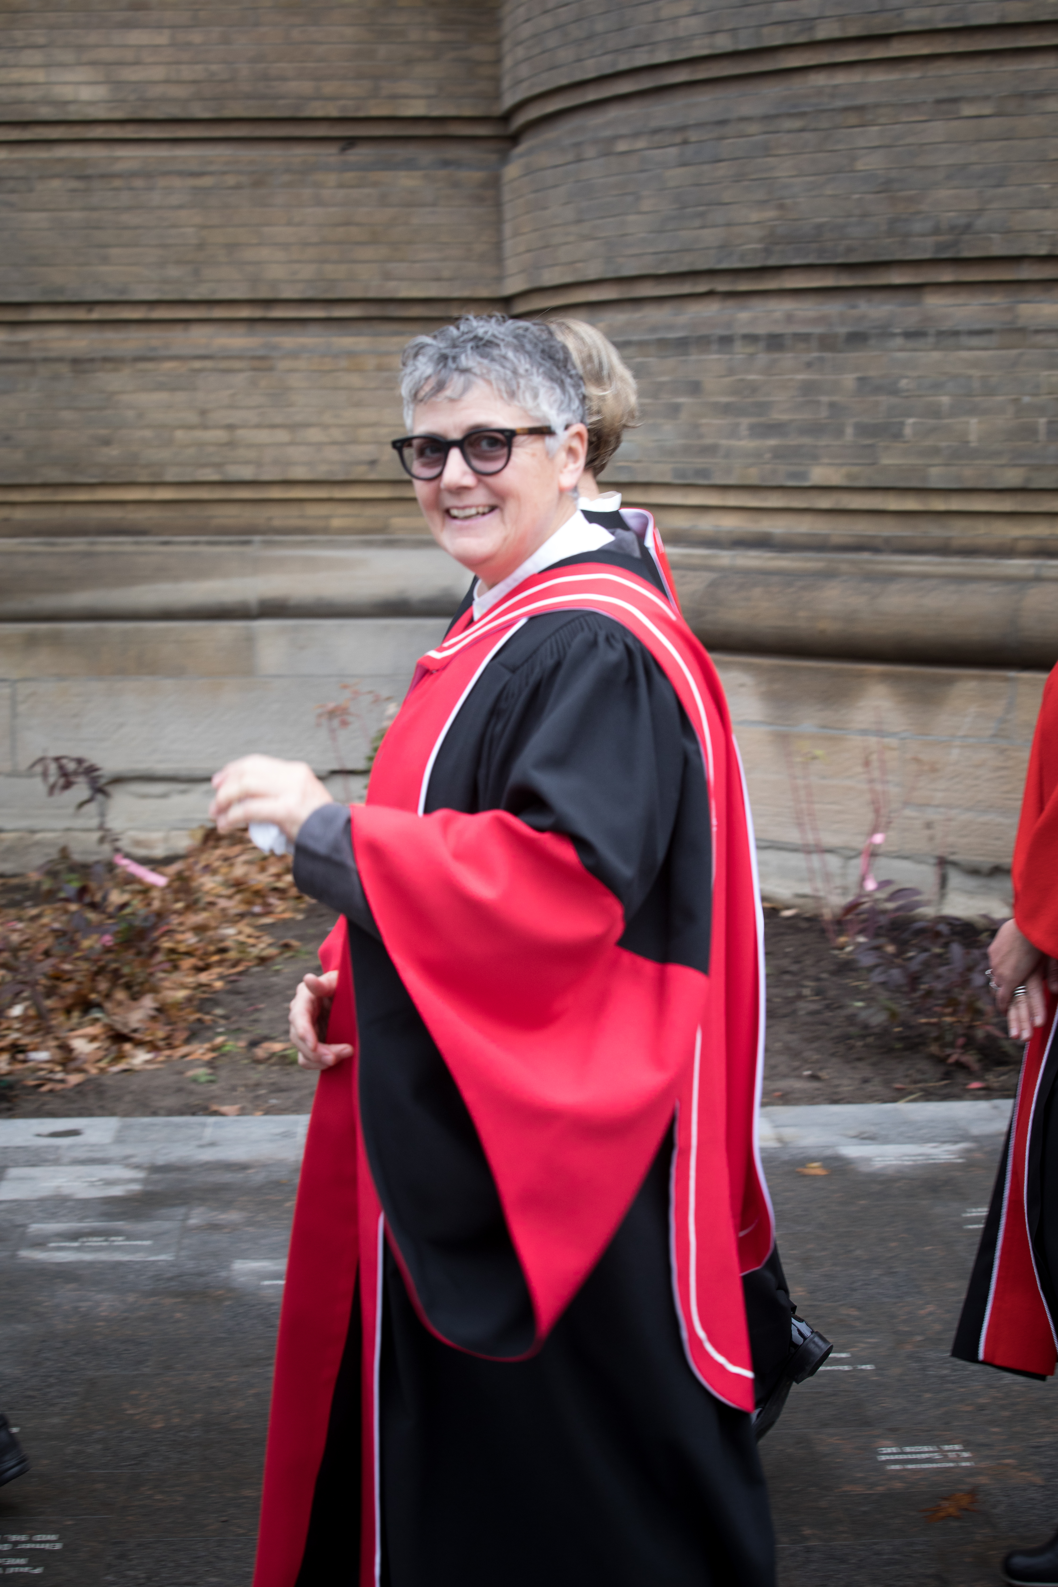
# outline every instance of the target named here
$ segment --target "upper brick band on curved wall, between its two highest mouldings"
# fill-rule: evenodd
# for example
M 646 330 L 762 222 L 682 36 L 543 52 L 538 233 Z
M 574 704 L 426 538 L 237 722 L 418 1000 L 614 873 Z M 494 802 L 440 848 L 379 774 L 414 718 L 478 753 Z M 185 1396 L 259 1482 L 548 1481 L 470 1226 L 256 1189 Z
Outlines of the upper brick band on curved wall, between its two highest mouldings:
M 504 175 L 508 290 L 601 276 L 1053 256 L 1058 49 L 646 90 Z

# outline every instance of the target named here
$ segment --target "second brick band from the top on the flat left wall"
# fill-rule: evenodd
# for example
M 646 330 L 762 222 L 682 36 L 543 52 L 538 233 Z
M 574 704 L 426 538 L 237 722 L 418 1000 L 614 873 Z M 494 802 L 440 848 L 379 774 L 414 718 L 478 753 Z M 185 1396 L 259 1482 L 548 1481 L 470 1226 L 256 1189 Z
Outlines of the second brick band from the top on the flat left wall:
M 352 146 L 349 146 L 352 144 Z M 500 292 L 489 138 L 0 146 L 5 303 Z

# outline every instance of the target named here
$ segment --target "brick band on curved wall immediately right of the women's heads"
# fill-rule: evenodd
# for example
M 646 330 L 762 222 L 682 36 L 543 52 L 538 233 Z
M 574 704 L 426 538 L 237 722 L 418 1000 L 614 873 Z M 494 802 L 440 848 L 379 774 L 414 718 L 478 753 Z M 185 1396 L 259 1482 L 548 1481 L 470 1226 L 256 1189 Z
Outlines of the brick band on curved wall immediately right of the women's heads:
M 644 424 L 608 478 L 895 490 L 1058 486 L 1053 294 L 977 286 L 596 309 Z

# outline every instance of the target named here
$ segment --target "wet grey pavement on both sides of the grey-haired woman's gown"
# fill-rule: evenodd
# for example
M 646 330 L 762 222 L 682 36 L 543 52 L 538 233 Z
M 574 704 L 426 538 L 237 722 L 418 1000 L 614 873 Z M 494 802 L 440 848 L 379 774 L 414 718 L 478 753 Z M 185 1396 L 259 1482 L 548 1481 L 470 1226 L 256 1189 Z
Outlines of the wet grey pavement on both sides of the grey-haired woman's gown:
M 1007 1108 L 768 1109 L 782 1257 L 834 1341 L 761 1446 L 782 1587 L 985 1587 L 1058 1525 L 1052 1384 L 947 1355 Z M 33 1462 L 0 1576 L 247 1587 L 305 1125 L 0 1122 L 0 1406 Z

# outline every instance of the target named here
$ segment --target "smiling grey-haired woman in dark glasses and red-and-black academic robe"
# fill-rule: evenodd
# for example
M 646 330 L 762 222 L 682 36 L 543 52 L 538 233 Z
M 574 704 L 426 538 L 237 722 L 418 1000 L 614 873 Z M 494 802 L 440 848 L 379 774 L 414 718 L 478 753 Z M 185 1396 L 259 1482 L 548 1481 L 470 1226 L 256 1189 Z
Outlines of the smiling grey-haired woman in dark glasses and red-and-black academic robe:
M 403 395 L 393 446 L 474 579 L 366 805 L 263 755 L 214 779 L 217 825 L 276 822 L 341 916 L 292 1005 L 320 1079 L 255 1587 L 772 1587 L 723 690 L 647 525 L 579 511 L 584 384 L 546 325 L 417 336 Z

